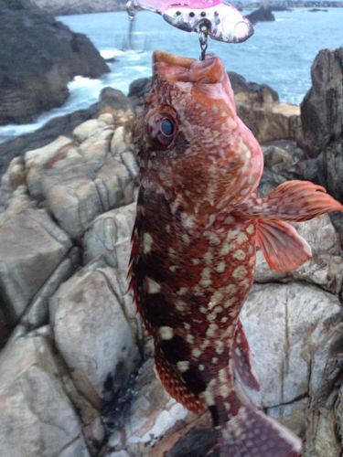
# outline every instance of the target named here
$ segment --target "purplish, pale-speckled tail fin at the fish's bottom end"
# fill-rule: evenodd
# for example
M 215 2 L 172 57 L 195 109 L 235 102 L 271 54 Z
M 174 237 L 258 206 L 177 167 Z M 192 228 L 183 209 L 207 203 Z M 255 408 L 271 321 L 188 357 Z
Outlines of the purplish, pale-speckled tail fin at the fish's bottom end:
M 227 418 L 216 427 L 219 438 L 215 451 L 220 457 L 297 457 L 302 442 L 291 431 L 262 411 L 242 401 L 234 391 L 220 404 Z M 224 414 L 225 416 L 225 414 Z

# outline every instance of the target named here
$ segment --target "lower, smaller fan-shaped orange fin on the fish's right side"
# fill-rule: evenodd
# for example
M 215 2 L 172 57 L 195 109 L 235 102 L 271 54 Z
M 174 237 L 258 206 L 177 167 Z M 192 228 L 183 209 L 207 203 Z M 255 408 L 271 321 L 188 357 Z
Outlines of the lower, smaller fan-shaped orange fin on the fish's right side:
M 296 270 L 311 257 L 311 248 L 305 239 L 283 220 L 259 219 L 256 241 L 264 259 L 276 271 Z

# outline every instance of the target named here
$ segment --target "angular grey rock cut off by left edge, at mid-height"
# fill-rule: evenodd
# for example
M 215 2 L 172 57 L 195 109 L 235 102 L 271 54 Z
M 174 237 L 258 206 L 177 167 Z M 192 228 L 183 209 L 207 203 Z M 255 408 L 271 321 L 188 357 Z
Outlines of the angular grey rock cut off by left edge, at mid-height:
M 0 288 L 12 325 L 70 248 L 69 237 L 45 209 L 30 207 L 26 200 L 14 201 L 0 214 Z

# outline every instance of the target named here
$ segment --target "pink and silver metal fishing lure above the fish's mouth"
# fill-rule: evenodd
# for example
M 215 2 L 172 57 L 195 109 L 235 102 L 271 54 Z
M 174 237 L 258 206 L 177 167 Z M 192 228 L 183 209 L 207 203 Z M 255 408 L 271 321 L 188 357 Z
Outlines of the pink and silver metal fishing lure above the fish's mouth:
M 168 24 L 187 32 L 200 33 L 225 43 L 242 43 L 252 37 L 249 19 L 227 0 L 131 0 L 127 10 L 145 9 L 161 15 Z

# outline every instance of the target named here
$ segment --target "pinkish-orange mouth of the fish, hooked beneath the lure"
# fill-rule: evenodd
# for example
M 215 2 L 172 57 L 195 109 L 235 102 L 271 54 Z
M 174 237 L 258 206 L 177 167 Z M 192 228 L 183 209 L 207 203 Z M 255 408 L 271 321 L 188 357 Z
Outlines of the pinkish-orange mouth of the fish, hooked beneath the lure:
M 154 75 L 173 84 L 193 82 L 216 84 L 222 82 L 226 72 L 217 56 L 208 54 L 204 60 L 175 56 L 165 51 L 155 51 Z

